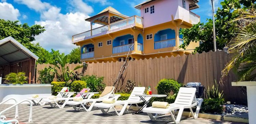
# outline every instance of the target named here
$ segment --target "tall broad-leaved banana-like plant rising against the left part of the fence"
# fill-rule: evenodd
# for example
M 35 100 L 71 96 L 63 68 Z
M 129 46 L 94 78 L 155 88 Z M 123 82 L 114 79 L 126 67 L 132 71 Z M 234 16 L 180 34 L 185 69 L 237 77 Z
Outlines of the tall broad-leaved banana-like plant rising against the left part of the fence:
M 68 55 L 61 56 L 61 57 L 59 55 L 57 55 L 59 63 L 57 63 L 57 62 L 50 63 L 50 64 L 54 65 L 55 68 L 59 69 L 60 73 L 57 71 L 56 75 L 57 75 L 57 80 L 60 82 L 68 82 L 72 78 L 73 71 L 83 67 L 83 65 L 79 65 L 79 66 L 76 66 L 73 71 L 69 70 L 69 67 L 66 66 L 67 57 L 68 57 Z M 55 69 L 54 67 L 51 67 L 51 68 Z

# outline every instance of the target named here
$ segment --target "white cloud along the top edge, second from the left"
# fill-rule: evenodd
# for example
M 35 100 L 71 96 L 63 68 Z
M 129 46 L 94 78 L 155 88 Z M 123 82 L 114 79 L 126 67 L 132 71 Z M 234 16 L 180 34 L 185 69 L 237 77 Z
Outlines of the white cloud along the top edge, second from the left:
M 37 12 L 47 10 L 51 7 L 51 5 L 47 2 L 42 2 L 41 0 L 14 0 L 17 3 L 25 4 L 30 9 L 35 10 Z

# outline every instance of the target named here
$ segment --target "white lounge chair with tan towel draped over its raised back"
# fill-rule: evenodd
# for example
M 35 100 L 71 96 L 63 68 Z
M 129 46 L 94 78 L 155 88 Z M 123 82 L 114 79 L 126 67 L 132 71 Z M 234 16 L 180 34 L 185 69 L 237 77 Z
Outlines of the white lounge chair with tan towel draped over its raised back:
M 114 94 L 114 89 L 115 87 L 113 87 L 112 91 L 109 92 L 108 94 L 97 98 L 97 99 L 84 99 L 83 101 L 67 101 L 66 104 L 67 105 L 71 105 L 75 110 L 79 111 L 82 109 L 85 109 L 85 111 L 91 111 L 91 109 L 93 109 L 94 105 L 96 102 L 102 102 L 103 99 L 115 99 L 117 100 L 121 95 L 120 94 Z M 94 95 L 94 94 L 90 94 L 90 95 Z M 85 105 L 90 103 L 90 107 L 87 109 L 85 107 Z M 77 105 L 80 105 L 79 107 L 76 107 Z M 83 108 L 82 108 L 83 107 Z M 82 108 L 82 109 L 80 109 Z

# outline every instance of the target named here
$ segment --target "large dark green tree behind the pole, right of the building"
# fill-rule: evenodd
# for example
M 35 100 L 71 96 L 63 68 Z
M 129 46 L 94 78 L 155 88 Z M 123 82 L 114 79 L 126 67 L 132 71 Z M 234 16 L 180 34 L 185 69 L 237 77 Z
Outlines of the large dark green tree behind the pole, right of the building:
M 230 20 L 239 16 L 236 10 L 246 10 L 255 4 L 256 0 L 224 0 L 221 2 L 222 8 L 218 8 L 215 15 L 215 28 L 216 28 L 216 45 L 217 49 L 223 49 L 232 37 L 235 36 L 236 26 L 229 23 Z M 185 49 L 189 43 L 202 41 L 199 47 L 195 48 L 194 53 L 203 51 L 209 52 L 213 50 L 213 24 L 212 19 L 208 22 L 198 23 L 189 29 L 182 29 L 184 43 L 180 48 Z

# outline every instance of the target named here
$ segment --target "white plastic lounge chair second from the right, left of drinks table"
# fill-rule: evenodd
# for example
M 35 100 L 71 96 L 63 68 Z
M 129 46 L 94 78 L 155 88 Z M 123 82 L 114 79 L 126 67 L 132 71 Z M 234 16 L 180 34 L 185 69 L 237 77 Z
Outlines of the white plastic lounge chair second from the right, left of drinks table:
M 96 103 L 94 106 L 95 107 L 99 107 L 100 110 L 102 111 L 102 113 L 108 113 L 110 108 L 114 108 L 116 114 L 118 116 L 122 116 L 123 113 L 125 112 L 125 110 L 127 109 L 127 106 L 130 104 L 130 107 L 132 104 L 136 104 L 137 107 L 138 103 L 142 103 L 143 101 L 141 100 L 141 98 L 139 96 L 135 96 L 136 94 L 144 94 L 145 91 L 145 87 L 134 87 L 131 95 L 129 96 L 128 100 L 118 100 L 115 101 L 115 103 L 109 104 L 109 103 Z M 151 97 L 146 98 L 146 100 L 149 100 Z M 117 110 L 115 109 L 116 105 L 123 105 L 123 108 L 121 109 L 121 111 L 118 113 Z M 130 107 L 128 109 L 130 109 Z M 107 109 L 107 110 L 104 110 Z

